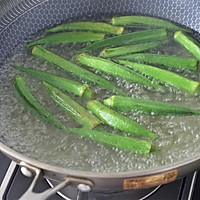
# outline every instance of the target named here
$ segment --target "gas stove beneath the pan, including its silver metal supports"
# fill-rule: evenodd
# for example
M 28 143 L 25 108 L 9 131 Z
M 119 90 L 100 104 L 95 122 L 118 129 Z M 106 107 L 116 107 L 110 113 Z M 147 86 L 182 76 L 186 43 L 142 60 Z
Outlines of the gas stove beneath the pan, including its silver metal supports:
M 0 199 L 17 200 L 28 189 L 33 178 L 23 175 L 21 168 L 0 152 Z M 41 177 L 34 192 L 40 193 L 55 185 Z M 65 189 L 54 194 L 48 200 L 199 200 L 200 171 L 172 183 L 146 190 L 123 191 L 117 193 L 80 192 L 77 189 Z M 67 192 L 66 192 L 67 191 Z

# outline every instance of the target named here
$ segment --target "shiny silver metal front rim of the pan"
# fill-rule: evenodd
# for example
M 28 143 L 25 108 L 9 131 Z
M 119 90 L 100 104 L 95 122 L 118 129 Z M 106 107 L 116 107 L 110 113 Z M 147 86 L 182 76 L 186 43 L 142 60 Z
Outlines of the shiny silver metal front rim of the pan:
M 89 178 L 131 178 L 131 177 L 143 177 L 143 176 L 150 176 L 154 174 L 162 174 L 168 171 L 178 170 L 180 167 L 186 167 L 186 165 L 193 164 L 194 162 L 200 160 L 200 153 L 185 158 L 181 161 L 173 162 L 168 165 L 155 167 L 151 169 L 145 169 L 145 170 L 136 170 L 136 171 L 126 171 L 126 172 L 89 172 L 89 171 L 83 171 L 83 170 L 73 170 L 70 168 L 63 168 L 59 166 L 50 165 L 47 163 L 44 163 L 42 161 L 38 161 L 36 159 L 30 158 L 26 155 L 23 155 L 22 153 L 19 153 L 12 148 L 6 146 L 0 141 L 0 151 L 9 157 L 11 159 L 15 159 L 15 161 L 18 162 L 18 164 L 23 161 L 31 166 L 34 166 L 36 168 L 46 170 L 49 172 L 57 173 L 57 174 L 65 174 L 75 177 L 89 177 Z M 200 165 L 199 165 L 200 167 Z M 191 170 L 192 171 L 192 170 Z M 193 170 L 195 171 L 195 169 Z

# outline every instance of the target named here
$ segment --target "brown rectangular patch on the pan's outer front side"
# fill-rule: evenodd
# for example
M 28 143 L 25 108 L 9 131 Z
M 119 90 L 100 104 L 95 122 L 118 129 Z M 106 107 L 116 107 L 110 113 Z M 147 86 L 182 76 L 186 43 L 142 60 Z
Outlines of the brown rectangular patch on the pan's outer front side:
M 125 179 L 123 184 L 124 190 L 147 189 L 158 185 L 163 185 L 175 181 L 178 176 L 178 170 L 172 170 L 153 176 Z

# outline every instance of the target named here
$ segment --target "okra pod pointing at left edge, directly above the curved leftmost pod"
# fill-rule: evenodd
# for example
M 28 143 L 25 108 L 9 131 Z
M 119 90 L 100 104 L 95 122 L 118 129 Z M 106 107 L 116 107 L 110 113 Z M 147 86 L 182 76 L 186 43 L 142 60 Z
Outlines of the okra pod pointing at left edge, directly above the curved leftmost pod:
M 37 80 L 45 81 L 53 86 L 56 86 L 64 91 L 70 92 L 77 96 L 84 96 L 89 99 L 93 97 L 93 92 L 89 85 L 81 84 L 77 81 L 56 76 L 40 70 L 23 68 L 20 66 L 14 66 L 14 68 L 21 72 L 25 72 L 26 74 L 32 76 Z

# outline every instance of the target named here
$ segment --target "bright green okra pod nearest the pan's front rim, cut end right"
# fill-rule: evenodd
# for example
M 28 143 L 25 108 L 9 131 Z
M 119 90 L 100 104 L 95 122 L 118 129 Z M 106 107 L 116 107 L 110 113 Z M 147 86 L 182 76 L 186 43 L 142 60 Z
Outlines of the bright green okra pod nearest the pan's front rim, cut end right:
M 125 151 L 147 155 L 150 153 L 151 150 L 152 143 L 151 141 L 147 140 L 140 140 L 137 138 L 87 129 L 70 128 L 68 130 L 69 132 L 75 133 L 81 137 Z

